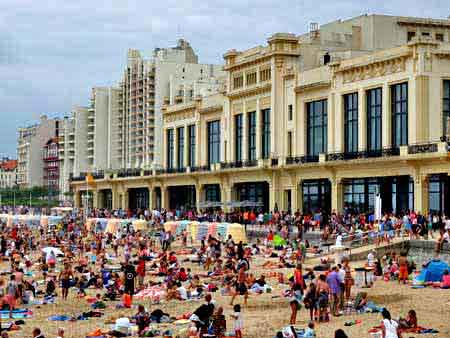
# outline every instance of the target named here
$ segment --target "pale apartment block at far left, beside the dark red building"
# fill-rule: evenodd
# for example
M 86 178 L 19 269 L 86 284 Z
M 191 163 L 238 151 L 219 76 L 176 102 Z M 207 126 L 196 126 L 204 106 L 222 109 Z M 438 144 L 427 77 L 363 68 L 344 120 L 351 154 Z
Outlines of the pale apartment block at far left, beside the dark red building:
M 17 140 L 17 184 L 31 188 L 44 184 L 42 149 L 47 141 L 58 137 L 59 120 L 42 115 L 38 124 L 19 128 Z

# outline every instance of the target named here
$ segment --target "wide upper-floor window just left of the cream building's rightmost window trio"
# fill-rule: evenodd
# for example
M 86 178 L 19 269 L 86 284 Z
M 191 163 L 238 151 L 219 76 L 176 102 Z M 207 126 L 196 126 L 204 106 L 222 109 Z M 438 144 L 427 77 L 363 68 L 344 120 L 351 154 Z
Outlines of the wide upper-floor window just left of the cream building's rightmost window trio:
M 327 150 L 327 100 L 307 104 L 308 156 L 319 156 Z

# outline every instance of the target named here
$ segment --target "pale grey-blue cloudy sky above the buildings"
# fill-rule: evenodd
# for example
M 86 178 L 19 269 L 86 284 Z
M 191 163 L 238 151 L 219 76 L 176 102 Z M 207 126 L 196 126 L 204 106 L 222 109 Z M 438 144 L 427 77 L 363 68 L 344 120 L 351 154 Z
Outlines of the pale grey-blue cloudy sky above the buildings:
M 150 55 L 183 37 L 201 63 L 220 64 L 227 50 L 264 44 L 275 32 L 366 13 L 446 18 L 450 2 L 1 0 L 0 156 L 16 156 L 18 127 L 69 113 L 88 104 L 93 86 L 116 84 L 128 48 Z

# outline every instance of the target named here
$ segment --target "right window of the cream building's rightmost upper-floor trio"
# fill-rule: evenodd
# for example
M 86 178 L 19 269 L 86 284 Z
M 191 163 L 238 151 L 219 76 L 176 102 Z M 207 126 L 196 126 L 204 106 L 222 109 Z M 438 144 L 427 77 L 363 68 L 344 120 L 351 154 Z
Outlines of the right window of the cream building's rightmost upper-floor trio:
M 408 144 L 408 83 L 391 86 L 392 146 Z

